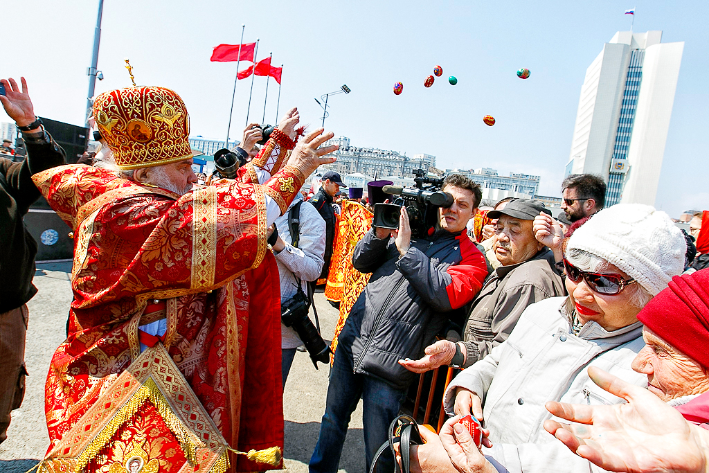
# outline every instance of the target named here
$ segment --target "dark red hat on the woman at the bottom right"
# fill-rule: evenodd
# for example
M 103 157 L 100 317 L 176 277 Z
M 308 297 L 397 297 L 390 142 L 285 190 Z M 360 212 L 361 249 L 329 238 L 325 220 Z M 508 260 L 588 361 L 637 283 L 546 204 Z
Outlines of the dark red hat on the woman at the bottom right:
M 709 268 L 675 276 L 637 318 L 647 328 L 709 369 Z

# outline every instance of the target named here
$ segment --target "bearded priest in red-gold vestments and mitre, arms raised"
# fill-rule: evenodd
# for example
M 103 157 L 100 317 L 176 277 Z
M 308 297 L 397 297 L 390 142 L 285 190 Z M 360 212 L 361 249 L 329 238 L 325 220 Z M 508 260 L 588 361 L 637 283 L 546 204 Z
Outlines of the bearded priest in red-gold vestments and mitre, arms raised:
M 325 157 L 291 110 L 236 180 L 194 186 L 189 116 L 162 87 L 94 101 L 118 171 L 33 177 L 74 230 L 69 337 L 45 391 L 42 472 L 281 464 L 280 295 L 269 226 Z M 292 150 L 292 151 L 291 151 Z M 262 184 L 259 184 L 261 182 Z

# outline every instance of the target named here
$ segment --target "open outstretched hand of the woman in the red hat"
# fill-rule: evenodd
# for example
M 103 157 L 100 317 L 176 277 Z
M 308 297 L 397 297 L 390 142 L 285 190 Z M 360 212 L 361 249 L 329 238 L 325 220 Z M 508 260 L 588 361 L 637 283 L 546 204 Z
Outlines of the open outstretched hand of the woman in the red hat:
M 700 433 L 676 409 L 647 389 L 633 386 L 596 367 L 588 376 L 605 391 L 627 401 L 614 406 L 547 402 L 554 416 L 547 432 L 579 457 L 613 472 L 704 472 L 708 459 Z M 581 424 L 581 425 L 579 425 Z

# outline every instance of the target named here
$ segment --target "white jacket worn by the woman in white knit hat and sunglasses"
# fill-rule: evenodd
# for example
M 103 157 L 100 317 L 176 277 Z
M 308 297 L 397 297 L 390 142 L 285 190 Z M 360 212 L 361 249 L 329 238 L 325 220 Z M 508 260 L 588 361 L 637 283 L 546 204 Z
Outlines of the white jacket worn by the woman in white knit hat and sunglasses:
M 445 393 L 445 408 L 450 415 L 458 386 L 481 396 L 485 424 L 493 443 L 484 453 L 509 472 L 603 471 L 574 455 L 544 430 L 544 421 L 552 418 L 545 402 L 624 402 L 591 381 L 589 366 L 599 367 L 630 384 L 647 386 L 647 377 L 630 367 L 644 346 L 642 323 L 607 332 L 598 323 L 588 322 L 576 336 L 571 329 L 570 308 L 567 297 L 531 304 L 508 340 L 464 369 Z

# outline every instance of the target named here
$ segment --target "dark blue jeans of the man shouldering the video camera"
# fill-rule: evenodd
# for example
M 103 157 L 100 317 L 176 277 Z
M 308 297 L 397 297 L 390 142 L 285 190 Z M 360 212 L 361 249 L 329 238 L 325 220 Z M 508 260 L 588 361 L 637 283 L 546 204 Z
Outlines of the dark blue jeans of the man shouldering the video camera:
M 349 333 L 348 333 L 349 332 Z M 348 336 L 349 335 L 349 336 Z M 389 424 L 398 415 L 406 391 L 364 374 L 354 374 L 352 367 L 352 330 L 348 325 L 340 333 L 335 362 L 330 372 L 328 401 L 320 423 L 320 437 L 311 457 L 310 472 L 336 473 L 345 443 L 347 425 L 362 398 L 364 449 L 367 471 L 376 450 L 389 438 Z M 382 455 L 379 471 L 394 469 L 391 454 Z

